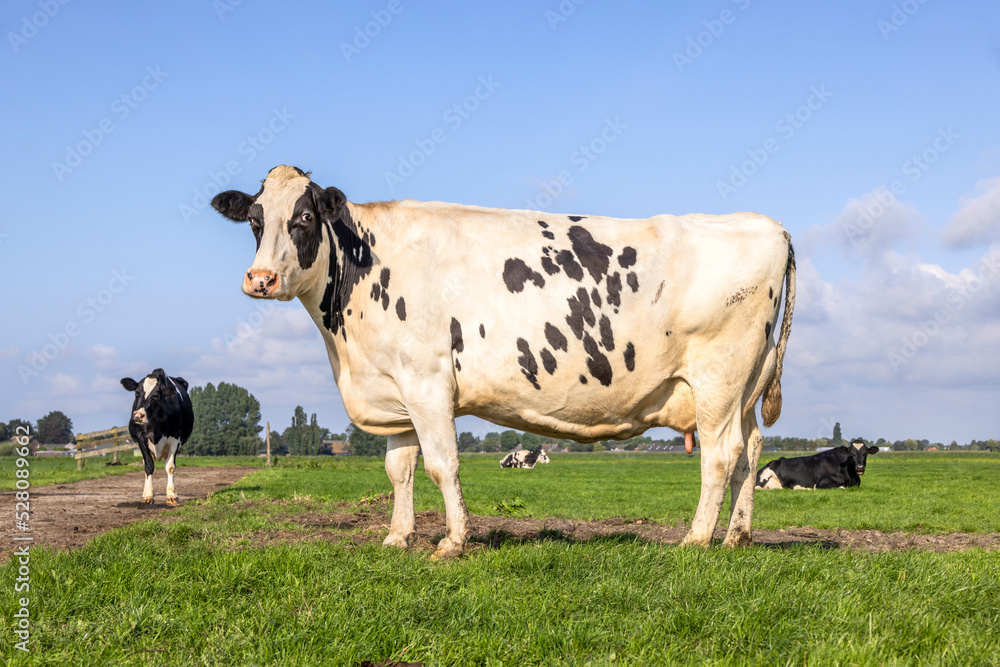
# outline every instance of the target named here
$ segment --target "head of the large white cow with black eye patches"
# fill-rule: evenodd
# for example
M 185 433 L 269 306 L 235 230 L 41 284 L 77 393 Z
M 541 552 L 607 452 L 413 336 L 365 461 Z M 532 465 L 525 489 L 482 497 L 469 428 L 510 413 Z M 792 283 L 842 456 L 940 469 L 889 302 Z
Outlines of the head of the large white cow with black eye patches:
M 321 255 L 328 256 L 335 225 L 350 220 L 346 205 L 337 188 L 321 188 L 308 173 L 285 165 L 268 172 L 256 195 L 237 190 L 216 195 L 215 210 L 234 222 L 249 222 L 257 239 L 243 292 L 288 301 L 317 287 L 327 276 Z M 310 270 L 318 258 L 323 268 Z

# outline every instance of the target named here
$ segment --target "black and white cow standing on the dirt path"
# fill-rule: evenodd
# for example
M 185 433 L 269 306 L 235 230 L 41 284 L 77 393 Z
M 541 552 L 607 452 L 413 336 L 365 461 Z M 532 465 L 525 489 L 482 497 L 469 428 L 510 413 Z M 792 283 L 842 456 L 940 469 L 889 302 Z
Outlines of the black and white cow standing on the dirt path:
M 140 382 L 122 378 L 122 386 L 135 392 L 128 432 L 139 445 L 146 469 L 146 484 L 142 502 L 153 502 L 153 461 L 165 461 L 167 471 L 167 504 L 177 504 L 174 491 L 174 460 L 194 428 L 194 410 L 187 395 L 184 378 L 172 378 L 162 368 Z

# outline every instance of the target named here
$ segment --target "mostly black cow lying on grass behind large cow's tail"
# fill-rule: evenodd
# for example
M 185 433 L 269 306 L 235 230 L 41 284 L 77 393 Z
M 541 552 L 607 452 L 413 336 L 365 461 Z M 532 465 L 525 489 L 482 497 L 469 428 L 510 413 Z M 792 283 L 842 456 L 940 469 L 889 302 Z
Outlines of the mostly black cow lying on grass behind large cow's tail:
M 861 486 L 868 455 L 878 451 L 864 440 L 852 440 L 812 456 L 771 461 L 757 473 L 758 489 L 843 489 Z

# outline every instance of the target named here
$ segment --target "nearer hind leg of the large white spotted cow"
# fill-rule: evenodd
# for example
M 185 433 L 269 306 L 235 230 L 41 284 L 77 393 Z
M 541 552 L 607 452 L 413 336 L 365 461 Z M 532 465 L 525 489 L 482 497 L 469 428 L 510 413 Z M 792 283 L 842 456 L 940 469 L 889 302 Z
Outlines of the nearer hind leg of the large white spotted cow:
M 707 425 L 700 418 L 698 431 L 701 433 L 701 497 L 698 510 L 691 522 L 691 530 L 682 544 L 708 546 L 712 533 L 722 512 L 722 502 L 726 497 L 726 484 L 743 450 L 743 429 L 739 412 L 730 411 L 730 416 L 719 424 Z

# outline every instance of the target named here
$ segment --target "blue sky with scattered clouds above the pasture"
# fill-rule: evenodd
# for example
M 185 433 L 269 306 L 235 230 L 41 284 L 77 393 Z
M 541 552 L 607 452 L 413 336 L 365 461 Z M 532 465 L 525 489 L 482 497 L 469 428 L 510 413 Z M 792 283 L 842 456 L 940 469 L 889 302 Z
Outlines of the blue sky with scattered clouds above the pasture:
M 346 426 L 206 205 L 293 164 L 358 202 L 764 213 L 799 258 L 770 433 L 1000 434 L 995 3 L 345 4 L 3 4 L 0 420 L 122 424 L 163 367 Z

